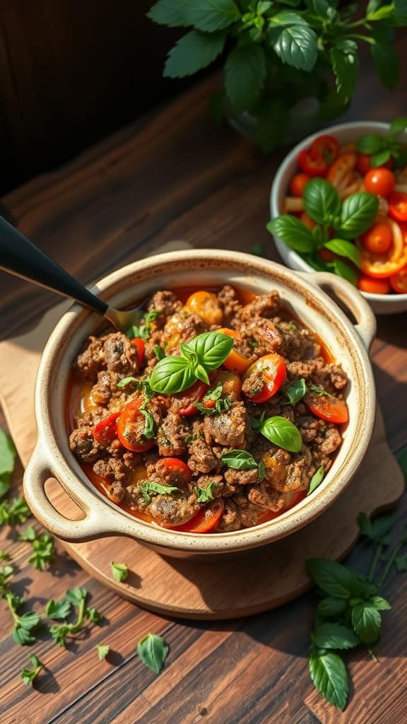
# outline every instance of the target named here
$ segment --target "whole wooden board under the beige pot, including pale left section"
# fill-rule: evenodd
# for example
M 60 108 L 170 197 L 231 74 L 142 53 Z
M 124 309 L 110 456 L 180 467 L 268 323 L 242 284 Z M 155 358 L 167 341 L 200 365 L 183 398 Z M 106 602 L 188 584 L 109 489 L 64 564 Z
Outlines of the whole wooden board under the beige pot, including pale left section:
M 190 248 L 173 242 L 158 251 Z M 0 344 L 0 401 L 23 465 L 35 445 L 35 374 L 56 321 L 69 306 L 52 308 L 38 327 Z M 22 412 L 23 411 L 23 412 Z M 109 537 L 89 543 L 60 544 L 102 584 L 141 607 L 171 617 L 238 618 L 288 602 L 311 585 L 309 557 L 343 557 L 356 542 L 356 516 L 395 505 L 404 481 L 385 439 L 377 411 L 372 443 L 356 477 L 326 513 L 292 536 L 253 552 L 211 560 L 164 558 L 133 539 Z M 54 506 L 67 518 L 81 511 L 56 482 L 47 488 Z M 127 563 L 125 583 L 114 581 L 110 562 Z

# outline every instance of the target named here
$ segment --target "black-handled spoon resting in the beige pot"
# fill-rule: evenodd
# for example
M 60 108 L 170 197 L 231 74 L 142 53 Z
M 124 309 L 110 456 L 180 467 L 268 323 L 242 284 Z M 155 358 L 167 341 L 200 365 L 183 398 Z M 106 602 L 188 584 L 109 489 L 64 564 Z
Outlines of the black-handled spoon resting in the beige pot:
M 120 311 L 102 302 L 2 216 L 0 216 L 0 269 L 16 277 L 27 279 L 28 282 L 40 287 L 46 287 L 56 294 L 75 299 L 82 306 L 109 319 L 119 332 L 126 332 L 133 324 L 140 324 L 143 319 L 144 313 L 140 308 Z

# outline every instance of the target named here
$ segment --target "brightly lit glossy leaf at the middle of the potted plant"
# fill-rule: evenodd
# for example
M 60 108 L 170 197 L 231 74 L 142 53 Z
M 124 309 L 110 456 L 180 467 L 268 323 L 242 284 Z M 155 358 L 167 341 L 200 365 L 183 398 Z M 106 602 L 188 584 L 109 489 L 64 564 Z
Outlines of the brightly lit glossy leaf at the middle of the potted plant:
M 269 27 L 269 42 L 283 63 L 311 72 L 318 57 L 317 38 L 309 25 Z

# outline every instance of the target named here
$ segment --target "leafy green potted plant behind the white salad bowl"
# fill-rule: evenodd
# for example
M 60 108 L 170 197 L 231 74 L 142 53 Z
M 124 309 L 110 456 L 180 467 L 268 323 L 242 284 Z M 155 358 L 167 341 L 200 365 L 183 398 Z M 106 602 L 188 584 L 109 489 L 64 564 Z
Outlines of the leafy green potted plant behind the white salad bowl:
M 359 4 L 360 5 L 360 4 Z M 241 132 L 272 151 L 348 110 L 359 46 L 368 43 L 388 88 L 398 83 L 395 28 L 407 25 L 407 0 L 158 0 L 154 22 L 191 28 L 169 51 L 167 77 L 193 75 L 225 56 L 223 88 L 213 100 Z

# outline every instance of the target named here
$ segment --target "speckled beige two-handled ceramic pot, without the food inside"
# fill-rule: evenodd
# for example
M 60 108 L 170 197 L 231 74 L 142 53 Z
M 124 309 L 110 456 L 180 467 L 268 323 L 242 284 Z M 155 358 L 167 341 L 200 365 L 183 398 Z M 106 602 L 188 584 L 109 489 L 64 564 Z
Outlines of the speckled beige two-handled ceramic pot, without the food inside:
M 375 412 L 372 368 L 366 350 L 375 321 L 358 292 L 332 274 L 298 274 L 235 251 L 180 251 L 153 256 L 114 271 L 93 287 L 104 300 L 120 308 L 168 287 L 222 285 L 228 282 L 252 292 L 277 289 L 295 314 L 327 343 L 349 376 L 347 399 L 350 421 L 343 445 L 320 487 L 280 518 L 234 533 L 196 535 L 145 523 L 103 497 L 85 476 L 70 452 L 64 414 L 70 367 L 88 334 L 100 319 L 77 304 L 51 334 L 41 359 L 35 387 L 38 442 L 24 476 L 25 497 L 39 521 L 67 541 L 81 542 L 110 535 L 130 536 L 167 555 L 226 553 L 247 550 L 288 536 L 324 512 L 348 486 L 369 445 Z M 353 326 L 324 293 L 334 292 L 351 309 Z M 69 521 L 46 496 L 45 483 L 55 477 L 80 506 L 85 518 Z

